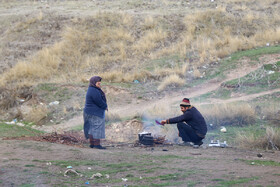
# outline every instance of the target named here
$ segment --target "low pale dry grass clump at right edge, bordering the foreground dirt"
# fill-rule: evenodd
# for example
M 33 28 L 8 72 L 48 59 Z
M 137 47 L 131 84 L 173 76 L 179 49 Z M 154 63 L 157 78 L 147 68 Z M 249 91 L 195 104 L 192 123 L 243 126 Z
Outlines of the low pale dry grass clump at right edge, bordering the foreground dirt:
M 257 136 L 252 132 L 239 132 L 236 137 L 236 143 L 243 148 L 260 149 L 280 149 L 280 130 L 279 128 L 266 127 L 264 136 Z

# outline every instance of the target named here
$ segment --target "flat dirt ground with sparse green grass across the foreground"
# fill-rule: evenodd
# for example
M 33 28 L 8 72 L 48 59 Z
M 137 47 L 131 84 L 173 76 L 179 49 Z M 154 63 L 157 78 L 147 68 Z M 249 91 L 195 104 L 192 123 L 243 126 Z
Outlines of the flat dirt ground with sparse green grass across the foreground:
M 279 151 L 133 144 L 96 150 L 19 140 L 1 140 L 0 150 L 1 186 L 280 185 Z M 67 166 L 79 176 L 64 176 Z M 91 179 L 96 173 L 103 176 Z

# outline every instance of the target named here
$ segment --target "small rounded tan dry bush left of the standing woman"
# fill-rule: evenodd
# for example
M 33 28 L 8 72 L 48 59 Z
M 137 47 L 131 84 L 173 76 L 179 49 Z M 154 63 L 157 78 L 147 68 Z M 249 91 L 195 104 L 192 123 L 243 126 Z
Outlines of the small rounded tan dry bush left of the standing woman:
M 23 119 L 28 122 L 34 122 L 35 124 L 41 124 L 47 118 L 48 112 L 49 110 L 46 106 L 36 105 L 28 113 L 23 115 Z

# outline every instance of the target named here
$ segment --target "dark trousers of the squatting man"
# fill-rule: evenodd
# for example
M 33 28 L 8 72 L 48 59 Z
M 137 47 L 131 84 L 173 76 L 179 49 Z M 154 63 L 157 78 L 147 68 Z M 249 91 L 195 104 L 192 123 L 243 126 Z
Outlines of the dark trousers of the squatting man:
M 203 138 L 199 137 L 195 130 L 184 122 L 177 123 L 177 128 L 179 130 L 179 136 L 184 142 L 201 142 Z

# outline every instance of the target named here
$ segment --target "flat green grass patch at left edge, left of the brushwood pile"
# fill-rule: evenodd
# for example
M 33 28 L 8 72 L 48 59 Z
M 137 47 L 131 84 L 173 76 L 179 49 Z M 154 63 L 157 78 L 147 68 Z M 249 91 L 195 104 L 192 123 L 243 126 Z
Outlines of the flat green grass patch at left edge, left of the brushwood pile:
M 0 123 L 0 138 L 4 137 L 21 137 L 21 136 L 37 136 L 43 134 L 42 131 L 32 129 L 28 126 L 18 126 L 15 124 Z

